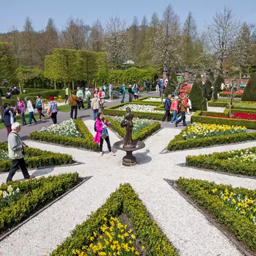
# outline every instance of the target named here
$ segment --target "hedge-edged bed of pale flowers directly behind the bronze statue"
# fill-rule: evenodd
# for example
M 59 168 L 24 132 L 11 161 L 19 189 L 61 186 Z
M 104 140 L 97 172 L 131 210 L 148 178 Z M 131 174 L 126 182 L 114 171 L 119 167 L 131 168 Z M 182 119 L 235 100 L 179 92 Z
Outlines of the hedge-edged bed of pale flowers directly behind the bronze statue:
M 121 118 L 116 118 L 113 120 L 111 118 L 106 118 L 107 122 L 111 122 L 110 129 L 114 130 L 118 133 L 122 138 L 125 138 L 126 130 L 120 126 Z M 133 129 L 133 140 L 144 140 L 148 136 L 152 135 L 156 131 L 158 131 L 161 127 L 159 122 L 151 123 L 148 120 L 134 120 L 134 129 Z

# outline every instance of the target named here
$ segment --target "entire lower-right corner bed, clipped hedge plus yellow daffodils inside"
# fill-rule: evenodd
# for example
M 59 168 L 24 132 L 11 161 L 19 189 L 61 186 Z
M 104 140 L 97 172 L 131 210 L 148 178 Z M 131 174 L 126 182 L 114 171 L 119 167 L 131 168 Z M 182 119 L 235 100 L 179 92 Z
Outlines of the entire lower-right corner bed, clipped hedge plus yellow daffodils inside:
M 256 252 L 256 225 L 252 221 L 255 220 L 256 190 L 185 178 L 179 178 L 178 188 Z

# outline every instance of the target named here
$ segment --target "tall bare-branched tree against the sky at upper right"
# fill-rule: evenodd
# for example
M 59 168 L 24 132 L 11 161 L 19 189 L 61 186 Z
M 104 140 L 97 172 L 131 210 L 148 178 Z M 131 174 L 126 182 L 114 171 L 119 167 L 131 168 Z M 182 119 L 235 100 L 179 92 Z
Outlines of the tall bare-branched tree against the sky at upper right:
M 235 18 L 233 10 L 227 6 L 224 7 L 223 13 L 216 12 L 213 22 L 207 26 L 207 35 L 212 49 L 219 58 L 221 71 L 223 71 L 224 60 L 230 53 L 239 29 L 240 20 Z

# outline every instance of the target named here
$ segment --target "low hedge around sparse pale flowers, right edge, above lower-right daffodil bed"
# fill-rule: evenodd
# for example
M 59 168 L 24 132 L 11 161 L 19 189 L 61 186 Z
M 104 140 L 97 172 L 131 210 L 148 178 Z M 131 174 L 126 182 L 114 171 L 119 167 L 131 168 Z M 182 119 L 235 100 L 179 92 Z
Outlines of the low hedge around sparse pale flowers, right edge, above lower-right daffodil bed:
M 256 151 L 256 147 L 247 148 L 250 151 Z M 200 168 L 219 170 L 220 172 L 243 174 L 249 176 L 256 176 L 256 165 L 251 162 L 242 162 L 233 159 L 238 153 L 245 152 L 244 150 L 216 152 L 209 155 L 187 156 L 186 165 L 196 166 Z M 232 160 L 228 160 L 232 158 Z

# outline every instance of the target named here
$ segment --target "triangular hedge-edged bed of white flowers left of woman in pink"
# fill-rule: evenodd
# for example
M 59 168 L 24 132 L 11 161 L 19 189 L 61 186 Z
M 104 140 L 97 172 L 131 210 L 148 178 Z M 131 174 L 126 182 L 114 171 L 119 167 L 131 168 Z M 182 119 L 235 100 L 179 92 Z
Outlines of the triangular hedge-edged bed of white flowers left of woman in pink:
M 70 127 L 70 124 L 67 124 L 68 121 L 64 122 L 65 124 L 60 123 L 53 127 L 53 130 L 56 131 L 57 134 L 48 134 L 48 129 L 51 130 L 51 128 L 47 127 L 42 132 L 31 133 L 30 138 L 32 140 L 46 141 L 72 147 L 86 148 L 87 150 L 92 151 L 99 151 L 98 144 L 93 141 L 93 135 L 89 132 L 87 126 L 84 124 L 82 119 L 75 120 L 75 126 L 78 134 L 76 132 L 76 129 L 73 129 L 73 125 L 71 132 L 68 128 Z M 61 129 L 58 129 L 58 127 L 56 127 L 58 125 L 60 125 L 60 127 L 66 127 L 66 130 L 61 131 Z M 71 135 L 72 137 L 70 137 Z

